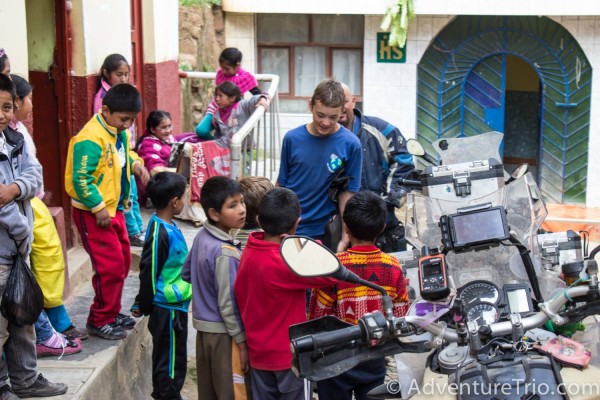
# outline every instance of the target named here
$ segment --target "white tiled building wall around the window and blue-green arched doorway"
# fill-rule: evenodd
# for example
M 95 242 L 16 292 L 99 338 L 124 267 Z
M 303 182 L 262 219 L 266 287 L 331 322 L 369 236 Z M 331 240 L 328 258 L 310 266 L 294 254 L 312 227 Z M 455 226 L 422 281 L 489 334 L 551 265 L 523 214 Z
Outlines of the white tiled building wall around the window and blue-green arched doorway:
M 224 1 L 225 3 L 227 0 Z M 497 5 L 497 2 L 494 3 Z M 577 7 L 584 7 L 583 2 L 575 3 Z M 548 2 L 550 6 L 553 4 Z M 590 10 L 600 6 L 600 2 L 585 4 L 589 5 Z M 377 62 L 376 36 L 377 32 L 381 31 L 379 27 L 381 15 L 365 16 L 363 69 L 365 114 L 378 116 L 391 122 L 400 128 L 406 138 L 415 137 L 417 65 L 430 42 L 452 18 L 452 15 L 417 15 L 409 23 L 406 63 L 394 64 Z M 592 157 L 600 153 L 600 16 L 562 16 L 552 17 L 552 19 L 562 24 L 577 39 L 593 67 L 587 206 L 600 207 L 600 182 L 597 178 L 600 176 L 600 158 Z M 227 45 L 237 46 L 244 53 L 244 68 L 255 71 L 255 60 L 251 64 L 247 57 L 247 54 L 256 52 L 252 15 L 227 14 L 226 33 Z M 288 130 L 309 121 L 309 114 L 282 114 L 280 116 L 281 136 L 283 137 Z

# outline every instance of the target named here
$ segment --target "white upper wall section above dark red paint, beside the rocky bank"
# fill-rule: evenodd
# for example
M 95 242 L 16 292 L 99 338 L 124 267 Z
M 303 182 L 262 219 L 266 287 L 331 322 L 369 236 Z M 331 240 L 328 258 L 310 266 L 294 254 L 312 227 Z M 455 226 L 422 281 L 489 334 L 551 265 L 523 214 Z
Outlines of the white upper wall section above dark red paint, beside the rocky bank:
M 179 58 L 179 4 L 144 0 L 142 4 L 144 63 L 156 64 Z

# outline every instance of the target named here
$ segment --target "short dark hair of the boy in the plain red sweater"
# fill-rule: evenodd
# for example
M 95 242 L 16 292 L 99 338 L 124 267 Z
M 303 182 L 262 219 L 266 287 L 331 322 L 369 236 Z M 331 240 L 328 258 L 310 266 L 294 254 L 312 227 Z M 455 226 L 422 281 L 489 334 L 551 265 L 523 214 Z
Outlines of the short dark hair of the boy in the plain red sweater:
M 300 202 L 289 189 L 275 188 L 267 192 L 258 205 L 260 227 L 271 236 L 290 233 L 300 218 Z

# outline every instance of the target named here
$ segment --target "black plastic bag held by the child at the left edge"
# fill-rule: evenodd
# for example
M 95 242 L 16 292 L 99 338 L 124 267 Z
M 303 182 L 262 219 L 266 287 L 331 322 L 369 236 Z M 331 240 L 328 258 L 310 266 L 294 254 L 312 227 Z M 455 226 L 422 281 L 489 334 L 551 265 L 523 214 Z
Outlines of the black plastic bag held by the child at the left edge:
M 44 308 L 44 295 L 31 269 L 17 254 L 2 295 L 0 313 L 9 323 L 22 327 L 37 321 Z

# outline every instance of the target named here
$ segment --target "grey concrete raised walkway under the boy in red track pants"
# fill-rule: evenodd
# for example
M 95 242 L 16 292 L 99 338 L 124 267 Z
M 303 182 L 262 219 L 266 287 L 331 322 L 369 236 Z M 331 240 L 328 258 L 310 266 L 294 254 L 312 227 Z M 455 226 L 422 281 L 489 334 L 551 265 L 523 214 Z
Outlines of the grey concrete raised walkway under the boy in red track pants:
M 144 221 L 148 221 L 152 211 L 143 210 Z M 188 246 L 197 232 L 193 224 L 177 221 L 182 228 Z M 122 296 L 122 312 L 129 313 L 139 289 L 139 260 L 141 247 L 132 247 L 131 272 L 125 281 Z M 78 329 L 85 329 L 89 307 L 94 298 L 91 285 L 92 264 L 85 249 L 76 246 L 67 251 L 68 282 L 65 306 Z M 189 317 L 188 354 L 190 372 L 182 395 L 197 399 L 195 384 L 195 331 Z M 48 397 L 52 400 L 109 400 L 109 399 L 151 399 L 152 392 L 152 337 L 147 329 L 148 318 L 138 319 L 135 328 L 123 340 L 105 340 L 90 336 L 84 340 L 81 353 L 63 357 L 38 359 L 40 372 L 51 382 L 63 382 L 69 386 L 66 394 Z

